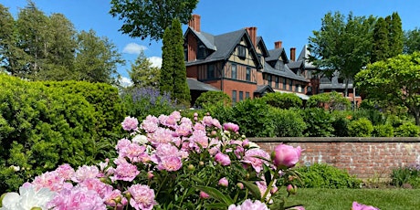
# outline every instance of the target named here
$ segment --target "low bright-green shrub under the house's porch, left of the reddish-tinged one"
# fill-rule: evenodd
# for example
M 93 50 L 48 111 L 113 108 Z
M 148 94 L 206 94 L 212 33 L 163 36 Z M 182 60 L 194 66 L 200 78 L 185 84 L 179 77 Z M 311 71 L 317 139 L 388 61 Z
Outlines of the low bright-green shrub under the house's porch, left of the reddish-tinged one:
M 265 100 L 268 105 L 280 109 L 300 108 L 302 100 L 294 93 L 270 92 L 264 95 L 262 100 Z

